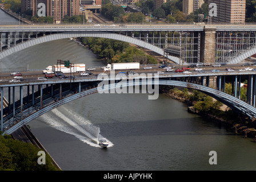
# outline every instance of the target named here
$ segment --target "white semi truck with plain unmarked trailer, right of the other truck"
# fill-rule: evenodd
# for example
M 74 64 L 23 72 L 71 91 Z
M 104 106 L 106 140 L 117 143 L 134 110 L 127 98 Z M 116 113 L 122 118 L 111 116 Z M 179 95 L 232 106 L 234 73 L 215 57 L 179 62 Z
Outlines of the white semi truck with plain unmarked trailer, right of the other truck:
M 112 63 L 107 64 L 104 71 L 123 70 L 123 69 L 139 69 L 139 63 Z

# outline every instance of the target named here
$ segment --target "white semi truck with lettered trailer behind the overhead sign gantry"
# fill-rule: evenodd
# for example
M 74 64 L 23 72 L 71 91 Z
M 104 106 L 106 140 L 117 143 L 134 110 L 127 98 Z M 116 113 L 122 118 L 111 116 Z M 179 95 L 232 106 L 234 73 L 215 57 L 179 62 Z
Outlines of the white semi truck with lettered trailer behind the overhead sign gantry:
M 70 73 L 71 72 L 85 72 L 85 64 L 74 64 L 74 67 L 67 68 L 64 64 L 60 64 L 57 67 L 57 64 L 53 66 L 49 66 L 43 70 L 43 73 L 45 74 L 51 74 L 55 72 L 61 72 L 61 73 Z

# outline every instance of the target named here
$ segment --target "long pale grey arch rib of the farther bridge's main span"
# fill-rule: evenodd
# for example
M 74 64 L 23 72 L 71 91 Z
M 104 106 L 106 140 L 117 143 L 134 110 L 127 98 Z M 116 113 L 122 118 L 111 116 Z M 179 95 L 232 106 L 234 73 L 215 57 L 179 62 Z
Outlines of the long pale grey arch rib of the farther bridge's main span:
M 159 55 L 164 55 L 164 51 L 162 48 L 154 46 L 153 44 L 147 43 L 143 40 L 132 38 L 130 36 L 117 34 L 117 33 L 113 33 L 113 32 L 83 31 L 83 32 L 61 32 L 58 34 L 46 35 L 46 36 L 42 36 L 40 38 L 28 40 L 26 42 L 17 44 L 17 46 L 10 47 L 9 49 L 6 49 L 6 50 L 0 52 L 0 59 L 3 59 L 3 57 L 12 55 L 15 52 L 29 48 L 31 46 L 35 46 L 37 44 L 50 42 L 53 40 L 59 40 L 59 39 L 74 38 L 74 37 L 96 37 L 96 38 L 107 38 L 107 39 L 121 40 L 123 42 L 132 43 L 137 46 L 149 49 L 151 51 L 159 53 Z M 178 57 L 167 55 L 167 58 L 174 61 L 174 63 L 179 64 Z

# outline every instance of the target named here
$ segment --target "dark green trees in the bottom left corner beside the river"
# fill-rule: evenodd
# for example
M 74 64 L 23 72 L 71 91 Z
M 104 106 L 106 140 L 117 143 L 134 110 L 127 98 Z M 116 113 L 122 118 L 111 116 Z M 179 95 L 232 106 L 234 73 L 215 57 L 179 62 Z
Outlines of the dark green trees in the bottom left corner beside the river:
M 46 164 L 39 165 L 38 151 L 31 143 L 14 140 L 10 135 L 0 135 L 0 171 L 57 171 L 46 153 Z

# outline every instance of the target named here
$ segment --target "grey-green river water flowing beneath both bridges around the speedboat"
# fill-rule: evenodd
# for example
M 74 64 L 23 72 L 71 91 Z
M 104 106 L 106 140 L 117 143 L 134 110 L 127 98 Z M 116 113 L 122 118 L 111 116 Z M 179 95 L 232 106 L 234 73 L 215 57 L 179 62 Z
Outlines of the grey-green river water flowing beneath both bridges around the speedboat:
M 5 17 L 0 11 L 0 21 Z M 15 21 L 15 20 L 13 20 Z M 76 58 L 75 58 L 76 57 Z M 27 48 L 2 60 L 6 68 L 45 68 L 57 59 L 105 65 L 70 39 Z M 255 170 L 256 144 L 219 128 L 165 96 L 92 94 L 29 123 L 63 170 Z M 98 138 L 109 140 L 100 148 Z M 210 151 L 217 164 L 209 164 Z

